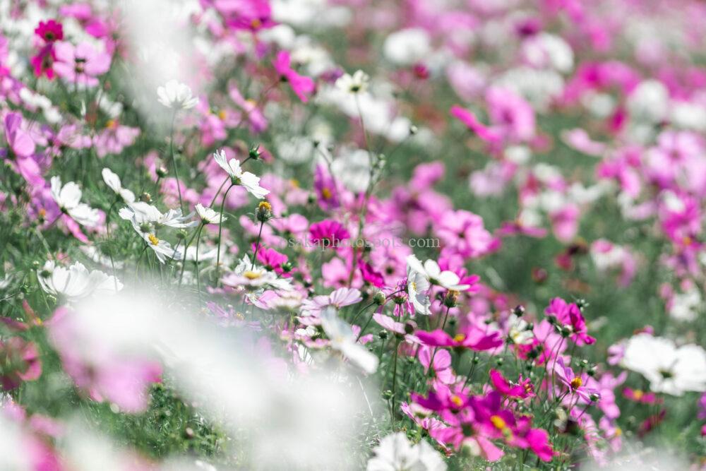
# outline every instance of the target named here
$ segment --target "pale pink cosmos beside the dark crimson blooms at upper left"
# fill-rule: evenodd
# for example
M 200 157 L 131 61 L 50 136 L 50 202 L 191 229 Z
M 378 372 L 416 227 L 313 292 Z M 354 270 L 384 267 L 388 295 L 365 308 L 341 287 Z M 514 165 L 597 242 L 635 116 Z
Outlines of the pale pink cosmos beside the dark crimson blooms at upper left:
M 110 54 L 99 52 L 88 42 L 74 46 L 65 41 L 57 42 L 55 47 L 56 62 L 54 71 L 61 78 L 71 83 L 88 87 L 98 85 L 97 76 L 110 68 Z

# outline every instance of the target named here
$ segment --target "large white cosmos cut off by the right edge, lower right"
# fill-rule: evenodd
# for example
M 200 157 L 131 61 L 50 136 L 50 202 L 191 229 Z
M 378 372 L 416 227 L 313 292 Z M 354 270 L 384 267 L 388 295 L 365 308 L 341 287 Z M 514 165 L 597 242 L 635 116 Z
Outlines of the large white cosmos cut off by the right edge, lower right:
M 622 364 L 645 376 L 655 393 L 706 390 L 706 351 L 698 345 L 677 347 L 669 339 L 640 333 L 628 340 Z

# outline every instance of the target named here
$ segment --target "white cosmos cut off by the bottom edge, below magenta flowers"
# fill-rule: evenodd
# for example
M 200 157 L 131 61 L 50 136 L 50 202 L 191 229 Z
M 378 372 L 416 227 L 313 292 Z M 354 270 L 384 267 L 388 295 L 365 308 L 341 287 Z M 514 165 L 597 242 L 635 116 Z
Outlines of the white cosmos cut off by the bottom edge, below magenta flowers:
M 412 445 L 407 435 L 398 431 L 385 436 L 373 448 L 366 471 L 445 471 L 446 464 L 438 451 L 422 440 Z

